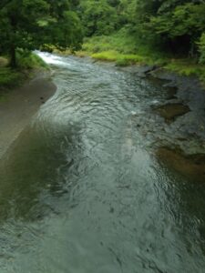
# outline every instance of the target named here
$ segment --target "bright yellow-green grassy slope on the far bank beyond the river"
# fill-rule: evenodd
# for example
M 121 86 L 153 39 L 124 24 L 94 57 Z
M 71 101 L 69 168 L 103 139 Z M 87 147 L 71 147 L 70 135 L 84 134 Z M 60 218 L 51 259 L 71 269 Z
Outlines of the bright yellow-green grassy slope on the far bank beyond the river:
M 121 29 L 114 35 L 93 36 L 85 39 L 82 51 L 77 56 L 92 56 L 103 61 L 115 61 L 117 66 L 162 65 L 167 56 L 140 45 L 135 38 Z

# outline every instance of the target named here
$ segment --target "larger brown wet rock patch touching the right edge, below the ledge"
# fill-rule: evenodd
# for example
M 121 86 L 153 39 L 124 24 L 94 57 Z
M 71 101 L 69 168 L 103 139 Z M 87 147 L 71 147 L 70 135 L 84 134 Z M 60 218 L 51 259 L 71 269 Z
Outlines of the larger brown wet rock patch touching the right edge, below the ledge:
M 159 163 L 175 170 L 191 181 L 205 183 L 205 154 L 186 155 L 180 149 L 159 147 Z

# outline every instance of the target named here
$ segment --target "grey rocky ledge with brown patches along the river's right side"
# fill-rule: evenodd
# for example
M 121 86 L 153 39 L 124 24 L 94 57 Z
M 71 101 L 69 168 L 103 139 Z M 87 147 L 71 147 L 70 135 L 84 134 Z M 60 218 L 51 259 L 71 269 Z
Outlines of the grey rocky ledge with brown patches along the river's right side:
M 117 69 L 138 81 L 146 78 L 161 90 L 160 99 L 157 93 L 145 116 L 140 111 L 138 114 L 137 108 L 132 111 L 132 122 L 144 137 L 144 145 L 151 147 L 159 164 L 191 181 L 200 174 L 197 180 L 203 182 L 205 92 L 199 77 L 151 64 L 118 66 Z

